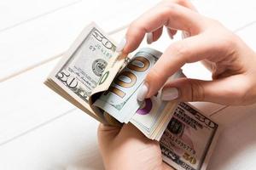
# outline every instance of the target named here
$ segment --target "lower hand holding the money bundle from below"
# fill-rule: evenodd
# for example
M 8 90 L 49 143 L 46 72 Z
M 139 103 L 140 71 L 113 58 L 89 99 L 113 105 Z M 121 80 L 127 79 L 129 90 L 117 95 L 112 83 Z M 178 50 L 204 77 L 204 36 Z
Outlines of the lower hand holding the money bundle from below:
M 173 170 L 162 161 L 160 144 L 130 123 L 123 127 L 100 124 L 98 141 L 106 170 Z

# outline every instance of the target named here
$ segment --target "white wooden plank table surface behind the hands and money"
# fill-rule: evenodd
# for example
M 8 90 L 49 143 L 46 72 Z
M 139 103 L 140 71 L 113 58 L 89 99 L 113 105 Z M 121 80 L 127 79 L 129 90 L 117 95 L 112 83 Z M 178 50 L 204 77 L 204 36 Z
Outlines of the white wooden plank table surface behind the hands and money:
M 2 0 L 0 2 L 0 169 L 102 169 L 97 122 L 43 84 L 84 26 L 94 20 L 119 41 L 153 0 Z M 256 3 L 194 0 L 256 49 Z M 154 43 L 164 50 L 167 37 Z M 146 46 L 143 42 L 143 47 Z M 188 77 L 208 79 L 200 64 Z M 201 74 L 201 72 L 204 72 Z M 256 105 L 194 103 L 224 126 L 209 169 L 255 169 Z

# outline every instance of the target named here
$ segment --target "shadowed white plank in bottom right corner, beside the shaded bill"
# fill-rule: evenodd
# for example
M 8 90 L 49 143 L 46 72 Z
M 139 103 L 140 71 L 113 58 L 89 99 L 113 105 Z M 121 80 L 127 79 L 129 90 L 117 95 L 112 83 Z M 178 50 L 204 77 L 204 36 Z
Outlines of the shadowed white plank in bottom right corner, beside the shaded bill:
M 209 170 L 232 169 L 232 170 L 253 170 L 256 162 L 256 105 L 254 110 L 249 113 L 246 108 L 237 111 L 225 112 L 230 118 L 235 115 L 247 112 L 246 116 L 231 123 L 224 129 L 218 138 L 218 144 L 213 151 Z

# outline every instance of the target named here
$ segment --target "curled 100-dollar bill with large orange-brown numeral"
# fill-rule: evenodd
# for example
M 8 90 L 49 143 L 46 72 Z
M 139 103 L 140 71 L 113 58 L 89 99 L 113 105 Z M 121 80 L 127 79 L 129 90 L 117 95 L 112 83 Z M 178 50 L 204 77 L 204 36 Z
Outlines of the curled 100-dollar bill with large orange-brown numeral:
M 114 79 L 108 91 L 96 99 L 93 105 L 108 112 L 119 122 L 129 122 L 141 105 L 137 101 L 138 89 L 143 85 L 144 78 L 160 55 L 160 52 L 151 48 L 140 49 Z

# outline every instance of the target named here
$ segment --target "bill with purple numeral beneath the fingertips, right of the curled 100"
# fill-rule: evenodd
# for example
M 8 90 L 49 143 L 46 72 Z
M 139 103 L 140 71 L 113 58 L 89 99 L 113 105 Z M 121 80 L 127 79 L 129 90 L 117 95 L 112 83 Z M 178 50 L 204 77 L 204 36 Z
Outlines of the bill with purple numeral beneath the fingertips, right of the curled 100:
M 177 71 L 167 82 L 176 78 L 185 77 L 182 70 Z M 149 139 L 160 140 L 161 135 L 171 120 L 172 114 L 177 107 L 177 101 L 163 101 L 160 99 L 161 92 L 150 99 L 145 99 L 143 105 L 132 116 L 130 122 L 138 127 Z

